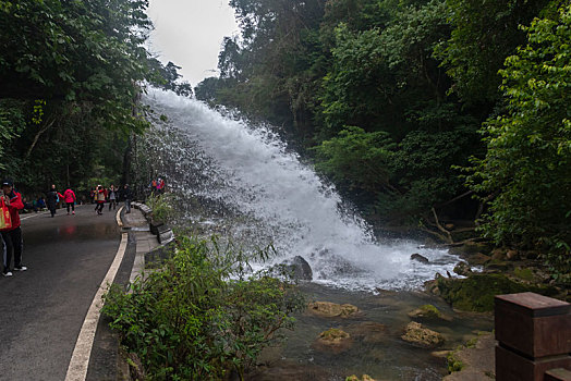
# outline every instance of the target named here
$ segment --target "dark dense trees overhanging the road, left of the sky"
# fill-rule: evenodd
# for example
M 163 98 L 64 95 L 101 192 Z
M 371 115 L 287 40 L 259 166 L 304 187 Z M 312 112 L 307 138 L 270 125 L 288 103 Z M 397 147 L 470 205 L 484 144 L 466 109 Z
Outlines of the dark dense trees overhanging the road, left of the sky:
M 145 49 L 147 5 L 0 1 L 0 171 L 25 194 L 120 181 L 143 85 L 192 91 Z

